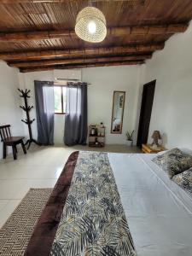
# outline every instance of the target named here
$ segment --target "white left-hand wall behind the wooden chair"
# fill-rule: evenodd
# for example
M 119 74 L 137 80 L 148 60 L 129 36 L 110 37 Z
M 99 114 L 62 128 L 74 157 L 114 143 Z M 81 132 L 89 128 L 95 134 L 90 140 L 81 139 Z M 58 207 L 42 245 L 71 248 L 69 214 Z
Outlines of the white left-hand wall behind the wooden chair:
M 20 106 L 19 71 L 8 67 L 4 61 L 0 61 L 0 125 L 11 125 L 13 136 L 23 136 L 24 125 L 21 122 L 22 110 Z M 3 145 L 0 143 L 0 159 L 3 157 Z M 9 148 L 9 151 L 10 152 Z

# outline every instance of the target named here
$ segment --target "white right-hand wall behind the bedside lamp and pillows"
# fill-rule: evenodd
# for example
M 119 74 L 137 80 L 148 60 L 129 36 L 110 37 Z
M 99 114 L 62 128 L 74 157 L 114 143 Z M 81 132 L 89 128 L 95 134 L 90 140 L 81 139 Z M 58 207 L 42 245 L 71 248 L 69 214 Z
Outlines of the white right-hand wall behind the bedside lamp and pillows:
M 166 148 L 192 148 L 192 24 L 147 61 L 143 84 L 156 79 L 149 139 L 160 130 Z

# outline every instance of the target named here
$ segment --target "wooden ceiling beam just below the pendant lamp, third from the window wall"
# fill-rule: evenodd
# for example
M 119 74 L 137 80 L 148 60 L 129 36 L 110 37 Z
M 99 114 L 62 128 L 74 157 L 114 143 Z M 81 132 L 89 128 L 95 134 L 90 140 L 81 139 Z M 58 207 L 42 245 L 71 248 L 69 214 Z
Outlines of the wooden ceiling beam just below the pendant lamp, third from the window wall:
M 143 52 L 154 52 L 163 49 L 164 43 L 160 44 L 136 44 L 127 46 L 117 46 L 108 48 L 86 48 L 86 49 L 49 49 L 28 52 L 3 52 L 0 53 L 0 59 L 5 61 L 27 61 L 42 60 L 50 58 L 64 57 L 85 57 L 90 55 L 119 55 L 136 54 Z

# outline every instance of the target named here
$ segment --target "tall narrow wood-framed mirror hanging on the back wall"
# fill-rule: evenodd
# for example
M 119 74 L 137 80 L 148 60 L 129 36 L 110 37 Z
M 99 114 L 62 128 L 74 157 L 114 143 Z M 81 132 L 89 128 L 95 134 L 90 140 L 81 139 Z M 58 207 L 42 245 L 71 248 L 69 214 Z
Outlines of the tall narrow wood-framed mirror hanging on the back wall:
M 113 109 L 111 119 L 111 133 L 122 133 L 125 105 L 125 91 L 113 91 Z

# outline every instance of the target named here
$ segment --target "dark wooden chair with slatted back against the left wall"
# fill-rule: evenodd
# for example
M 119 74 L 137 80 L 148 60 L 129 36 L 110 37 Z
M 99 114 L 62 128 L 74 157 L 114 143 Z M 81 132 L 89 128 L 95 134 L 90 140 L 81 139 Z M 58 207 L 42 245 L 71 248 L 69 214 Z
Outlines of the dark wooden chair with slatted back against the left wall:
M 21 144 L 24 154 L 26 154 L 26 147 L 23 143 L 24 137 L 12 137 L 10 133 L 10 125 L 0 126 L 0 136 L 3 142 L 3 159 L 7 156 L 7 146 L 12 147 L 14 160 L 17 159 L 17 145 Z

